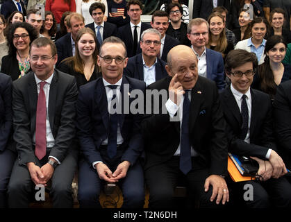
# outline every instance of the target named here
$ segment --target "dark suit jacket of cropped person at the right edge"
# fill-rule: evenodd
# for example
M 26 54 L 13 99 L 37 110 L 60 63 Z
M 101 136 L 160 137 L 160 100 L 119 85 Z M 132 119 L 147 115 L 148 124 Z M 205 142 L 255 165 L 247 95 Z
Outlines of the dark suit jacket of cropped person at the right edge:
M 274 123 L 278 149 L 291 169 L 291 80 L 278 85 L 274 100 Z

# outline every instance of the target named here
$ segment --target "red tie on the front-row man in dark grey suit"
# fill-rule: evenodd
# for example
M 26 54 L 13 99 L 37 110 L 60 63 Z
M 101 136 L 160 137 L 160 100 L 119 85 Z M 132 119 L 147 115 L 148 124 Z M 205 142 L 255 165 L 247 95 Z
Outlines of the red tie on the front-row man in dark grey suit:
M 38 160 L 46 155 L 47 150 L 47 106 L 44 94 L 44 85 L 46 82 L 40 82 L 40 93 L 38 94 L 38 107 L 36 110 L 35 126 L 35 155 Z

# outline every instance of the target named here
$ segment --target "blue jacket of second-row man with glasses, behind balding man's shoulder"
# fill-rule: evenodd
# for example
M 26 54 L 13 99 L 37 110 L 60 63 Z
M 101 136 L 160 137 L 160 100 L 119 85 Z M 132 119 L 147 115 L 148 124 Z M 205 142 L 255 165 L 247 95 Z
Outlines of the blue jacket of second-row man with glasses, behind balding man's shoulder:
M 224 82 L 224 59 L 222 54 L 206 48 L 207 78 L 215 81 L 217 89 L 225 88 Z

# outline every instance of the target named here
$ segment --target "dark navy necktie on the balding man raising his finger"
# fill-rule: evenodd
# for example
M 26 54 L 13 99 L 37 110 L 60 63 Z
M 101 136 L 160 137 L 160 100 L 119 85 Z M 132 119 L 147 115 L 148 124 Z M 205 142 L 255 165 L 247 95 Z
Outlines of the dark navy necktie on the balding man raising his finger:
M 191 162 L 191 146 L 189 136 L 189 113 L 190 113 L 190 100 L 189 92 L 185 90 L 183 101 L 183 119 L 181 127 L 181 153 L 180 153 L 180 169 L 184 174 L 187 174 L 192 169 Z

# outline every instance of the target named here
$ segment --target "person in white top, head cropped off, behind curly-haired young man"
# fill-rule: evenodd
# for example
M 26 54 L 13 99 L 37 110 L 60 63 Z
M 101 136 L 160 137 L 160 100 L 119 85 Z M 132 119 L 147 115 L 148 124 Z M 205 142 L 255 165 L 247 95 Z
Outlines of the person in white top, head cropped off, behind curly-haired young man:
M 89 8 L 91 4 L 94 2 L 100 2 L 105 5 L 105 13 L 104 13 L 103 21 L 104 22 L 107 21 L 107 17 L 108 17 L 107 0 L 76 0 L 76 12 L 83 15 L 85 19 L 85 25 L 94 22 L 89 12 Z

